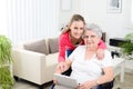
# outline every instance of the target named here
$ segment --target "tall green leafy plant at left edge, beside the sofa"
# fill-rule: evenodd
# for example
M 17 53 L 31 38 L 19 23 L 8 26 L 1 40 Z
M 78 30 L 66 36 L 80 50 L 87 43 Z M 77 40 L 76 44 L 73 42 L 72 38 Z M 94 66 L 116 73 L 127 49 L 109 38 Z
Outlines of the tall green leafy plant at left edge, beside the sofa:
M 11 63 L 11 41 L 6 36 L 0 36 L 0 89 L 11 89 L 14 83 L 10 72 Z

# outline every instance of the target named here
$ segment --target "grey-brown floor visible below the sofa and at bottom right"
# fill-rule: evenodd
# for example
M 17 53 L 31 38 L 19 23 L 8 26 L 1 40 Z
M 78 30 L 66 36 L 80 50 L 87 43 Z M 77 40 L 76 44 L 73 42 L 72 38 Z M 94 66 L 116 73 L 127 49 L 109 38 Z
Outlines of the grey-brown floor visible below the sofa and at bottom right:
M 44 89 L 50 89 L 51 83 L 47 83 Z M 37 85 L 20 79 L 13 89 L 39 89 Z M 120 82 L 120 77 L 115 78 L 113 89 L 133 89 L 133 73 L 125 73 L 124 82 Z

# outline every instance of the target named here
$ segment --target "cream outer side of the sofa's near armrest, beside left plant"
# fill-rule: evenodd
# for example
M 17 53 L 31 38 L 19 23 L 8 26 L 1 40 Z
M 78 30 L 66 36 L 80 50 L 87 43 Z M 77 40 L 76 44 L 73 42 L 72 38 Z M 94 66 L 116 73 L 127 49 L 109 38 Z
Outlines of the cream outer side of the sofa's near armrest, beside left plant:
M 13 75 L 40 83 L 45 71 L 45 55 L 24 49 L 12 49 Z M 43 68 L 43 71 L 42 71 Z

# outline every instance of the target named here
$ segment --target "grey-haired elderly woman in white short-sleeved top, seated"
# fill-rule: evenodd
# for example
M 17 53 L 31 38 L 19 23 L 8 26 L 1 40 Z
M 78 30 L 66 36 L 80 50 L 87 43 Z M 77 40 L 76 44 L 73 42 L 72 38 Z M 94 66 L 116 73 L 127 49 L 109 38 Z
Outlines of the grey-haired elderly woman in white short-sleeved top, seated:
M 103 60 L 96 57 L 102 31 L 96 24 L 85 27 L 83 34 L 85 46 L 79 46 L 65 60 L 64 70 L 72 68 L 71 76 L 80 83 L 78 89 L 100 89 L 99 85 L 113 80 L 111 53 L 105 50 Z M 55 73 L 62 73 L 57 67 Z

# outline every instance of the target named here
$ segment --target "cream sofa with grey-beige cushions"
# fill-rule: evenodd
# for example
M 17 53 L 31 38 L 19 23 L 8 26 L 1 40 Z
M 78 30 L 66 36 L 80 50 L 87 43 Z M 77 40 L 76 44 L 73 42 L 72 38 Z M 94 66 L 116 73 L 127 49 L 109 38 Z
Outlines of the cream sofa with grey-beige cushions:
M 13 76 L 40 86 L 52 81 L 58 65 L 57 38 L 33 40 L 13 47 Z

